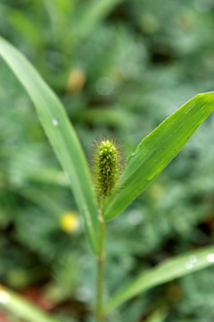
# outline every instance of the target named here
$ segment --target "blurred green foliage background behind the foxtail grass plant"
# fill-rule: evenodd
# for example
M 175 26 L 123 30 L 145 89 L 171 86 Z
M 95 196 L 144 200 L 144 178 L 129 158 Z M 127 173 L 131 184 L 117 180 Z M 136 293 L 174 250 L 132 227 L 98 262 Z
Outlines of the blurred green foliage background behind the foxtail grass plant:
M 213 90 L 213 0 L 0 0 L 0 33 L 61 98 L 90 158 L 115 133 L 126 155 L 169 114 Z M 0 282 L 62 322 L 90 322 L 95 261 L 67 178 L 0 61 Z M 109 296 L 137 272 L 214 239 L 214 117 L 108 225 Z M 214 268 L 128 301 L 113 322 L 214 320 Z M 0 309 L 1 322 L 20 322 Z M 153 319 L 161 322 L 163 319 Z

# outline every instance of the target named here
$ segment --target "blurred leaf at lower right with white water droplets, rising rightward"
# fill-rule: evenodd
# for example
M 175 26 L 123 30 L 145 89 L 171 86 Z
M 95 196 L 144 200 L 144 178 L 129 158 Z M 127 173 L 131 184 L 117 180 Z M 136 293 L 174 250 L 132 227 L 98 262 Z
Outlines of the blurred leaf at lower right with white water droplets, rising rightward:
M 104 312 L 110 312 L 124 301 L 154 286 L 172 281 L 175 278 L 191 274 L 211 265 L 214 265 L 214 246 L 171 258 L 157 267 L 144 271 L 130 284 L 116 293 L 116 295 L 113 295 L 111 300 L 105 305 Z

